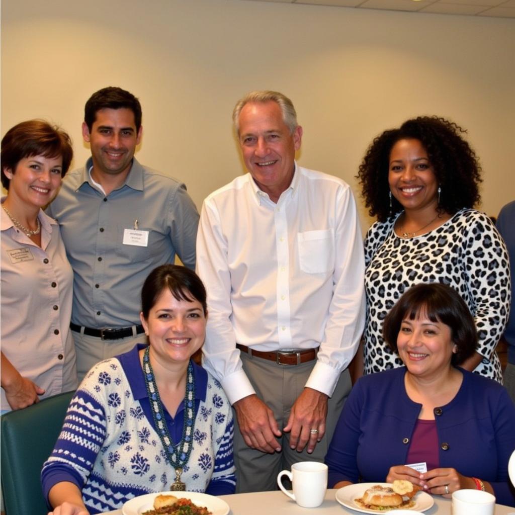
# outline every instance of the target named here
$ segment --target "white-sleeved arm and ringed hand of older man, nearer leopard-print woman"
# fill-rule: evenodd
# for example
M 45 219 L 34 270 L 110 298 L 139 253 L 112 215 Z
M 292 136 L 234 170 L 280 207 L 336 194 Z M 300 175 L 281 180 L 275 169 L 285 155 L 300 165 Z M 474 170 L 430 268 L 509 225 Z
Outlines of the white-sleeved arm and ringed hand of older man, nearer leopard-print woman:
M 354 357 L 365 325 L 365 259 L 361 227 L 350 187 L 341 186 L 338 195 L 334 291 L 324 339 L 320 342 L 317 363 L 284 427 L 284 431 L 291 432 L 291 447 L 298 451 L 307 443 L 307 452 L 313 452 L 317 441 L 323 437 L 327 400 L 341 371 Z M 310 428 L 317 428 L 318 433 L 310 434 Z

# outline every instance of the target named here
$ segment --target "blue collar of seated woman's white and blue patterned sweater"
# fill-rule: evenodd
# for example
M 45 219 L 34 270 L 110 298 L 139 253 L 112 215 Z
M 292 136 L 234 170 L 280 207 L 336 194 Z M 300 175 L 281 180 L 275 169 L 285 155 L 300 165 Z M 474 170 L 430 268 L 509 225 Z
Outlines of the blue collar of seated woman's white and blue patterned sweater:
M 147 347 L 147 344 L 137 344 L 131 351 L 116 356 L 127 376 L 132 396 L 136 401 L 148 397 L 139 355 L 140 350 L 145 347 Z M 195 399 L 204 402 L 208 388 L 208 372 L 194 363 L 193 377 L 195 380 Z

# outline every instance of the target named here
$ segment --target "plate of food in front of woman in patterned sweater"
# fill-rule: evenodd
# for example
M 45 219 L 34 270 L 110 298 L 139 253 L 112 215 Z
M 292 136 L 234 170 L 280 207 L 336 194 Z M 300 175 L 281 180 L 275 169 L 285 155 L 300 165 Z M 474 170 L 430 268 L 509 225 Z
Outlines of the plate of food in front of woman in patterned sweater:
M 123 515 L 227 515 L 229 505 L 219 497 L 198 492 L 147 493 L 127 501 Z

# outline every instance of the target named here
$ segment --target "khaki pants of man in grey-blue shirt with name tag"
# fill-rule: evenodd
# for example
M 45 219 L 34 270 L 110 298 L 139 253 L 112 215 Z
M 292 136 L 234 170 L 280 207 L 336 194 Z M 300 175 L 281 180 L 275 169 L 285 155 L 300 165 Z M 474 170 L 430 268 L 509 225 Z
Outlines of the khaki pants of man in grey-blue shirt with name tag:
M 130 351 L 136 344 L 146 343 L 147 337 L 144 334 L 128 336 L 118 340 L 102 340 L 95 336 L 72 331 L 77 354 L 77 376 L 79 383 L 90 369 L 104 359 L 123 354 Z

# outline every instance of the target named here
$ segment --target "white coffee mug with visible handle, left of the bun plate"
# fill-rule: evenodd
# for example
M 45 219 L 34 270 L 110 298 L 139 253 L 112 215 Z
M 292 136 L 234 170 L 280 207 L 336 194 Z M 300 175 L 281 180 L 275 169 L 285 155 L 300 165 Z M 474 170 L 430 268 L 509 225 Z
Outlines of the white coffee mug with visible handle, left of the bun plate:
M 303 508 L 320 506 L 327 490 L 327 465 L 318 461 L 300 461 L 289 470 L 282 470 L 277 476 L 279 488 Z M 288 476 L 293 484 L 293 494 L 288 492 L 282 482 L 282 476 Z

